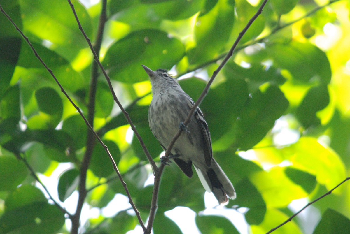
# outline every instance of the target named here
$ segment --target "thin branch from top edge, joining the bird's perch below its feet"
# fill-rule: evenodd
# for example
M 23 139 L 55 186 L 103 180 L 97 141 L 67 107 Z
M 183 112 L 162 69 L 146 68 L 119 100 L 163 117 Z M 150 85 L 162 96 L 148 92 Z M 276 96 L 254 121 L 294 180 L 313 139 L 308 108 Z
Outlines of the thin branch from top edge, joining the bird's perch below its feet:
M 142 140 L 142 137 L 140 136 L 140 134 L 139 134 L 138 131 L 136 130 L 136 127 L 135 127 L 134 123 L 132 122 L 132 120 L 131 120 L 131 118 L 130 118 L 130 116 L 129 116 L 129 113 L 127 113 L 127 112 L 125 111 L 124 107 L 121 105 L 120 101 L 118 100 L 117 95 L 116 95 L 116 93 L 115 93 L 114 90 L 113 90 L 113 86 L 112 86 L 112 83 L 111 83 L 111 79 L 110 79 L 110 77 L 107 75 L 106 70 L 103 68 L 101 62 L 99 61 L 98 56 L 97 56 L 97 54 L 96 54 L 96 51 L 93 49 L 93 46 L 92 46 L 92 44 L 91 44 L 90 38 L 86 35 L 86 33 L 85 33 L 85 31 L 84 31 L 82 25 L 80 24 L 80 21 L 79 21 L 79 19 L 78 19 L 77 13 L 76 13 L 76 11 L 75 11 L 75 9 L 74 9 L 74 6 L 73 6 L 72 2 L 71 2 L 70 0 L 68 0 L 68 2 L 69 2 L 70 7 L 72 8 L 73 14 L 74 14 L 75 19 L 76 19 L 76 21 L 77 21 L 77 23 L 78 23 L 78 27 L 79 27 L 80 31 L 82 32 L 83 36 L 85 37 L 86 42 L 89 44 L 89 47 L 90 47 L 90 49 L 91 49 L 91 51 L 92 51 L 92 54 L 93 54 L 93 57 L 94 57 L 95 61 L 97 62 L 97 64 L 99 65 L 99 67 L 100 67 L 100 69 L 101 69 L 103 75 L 105 76 L 105 78 L 106 78 L 106 80 L 107 80 L 108 86 L 109 86 L 110 91 L 111 91 L 111 93 L 112 93 L 112 95 L 113 95 L 113 100 L 117 103 L 117 105 L 119 106 L 120 110 L 123 112 L 123 114 L 124 114 L 126 120 L 127 120 L 128 123 L 130 124 L 131 129 L 134 131 L 134 134 L 135 134 L 135 136 L 137 137 L 137 139 L 139 140 L 139 142 L 140 142 L 140 144 L 141 144 L 141 147 L 142 147 L 142 149 L 144 150 L 144 153 L 145 153 L 145 155 L 146 155 L 146 157 L 147 157 L 149 163 L 150 163 L 151 166 L 152 166 L 153 171 L 157 171 L 157 170 L 158 170 L 158 167 L 157 167 L 157 165 L 155 164 L 155 162 L 154 162 L 154 160 L 153 160 L 151 154 L 149 154 L 149 151 L 148 151 L 148 149 L 147 149 L 147 147 L 146 147 L 144 141 Z

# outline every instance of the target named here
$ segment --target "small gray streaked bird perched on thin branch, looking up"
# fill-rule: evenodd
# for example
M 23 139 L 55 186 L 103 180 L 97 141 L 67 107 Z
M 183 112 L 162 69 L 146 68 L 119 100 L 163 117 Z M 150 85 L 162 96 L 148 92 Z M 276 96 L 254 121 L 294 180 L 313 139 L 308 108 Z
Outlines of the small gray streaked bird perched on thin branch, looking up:
M 153 91 L 153 99 L 148 109 L 149 127 L 166 150 L 179 127 L 184 127 L 182 121 L 187 118 L 194 101 L 182 90 L 177 80 L 168 75 L 167 70 L 152 71 L 145 65 L 142 67 L 151 79 Z M 199 107 L 175 142 L 170 158 L 188 177 L 193 175 L 193 164 L 203 187 L 214 193 L 219 204 L 226 203 L 227 197 L 236 198 L 232 183 L 212 157 L 208 125 Z

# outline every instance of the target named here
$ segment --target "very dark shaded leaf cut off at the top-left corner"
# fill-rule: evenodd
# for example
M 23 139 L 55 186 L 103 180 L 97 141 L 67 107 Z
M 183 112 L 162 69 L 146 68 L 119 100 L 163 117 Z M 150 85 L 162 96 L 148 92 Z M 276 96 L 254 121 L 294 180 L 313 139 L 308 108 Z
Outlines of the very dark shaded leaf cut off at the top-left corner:
M 1 0 L 0 4 L 11 19 L 22 28 L 18 1 Z M 21 50 L 21 37 L 5 15 L 0 14 L 0 100 L 10 84 Z

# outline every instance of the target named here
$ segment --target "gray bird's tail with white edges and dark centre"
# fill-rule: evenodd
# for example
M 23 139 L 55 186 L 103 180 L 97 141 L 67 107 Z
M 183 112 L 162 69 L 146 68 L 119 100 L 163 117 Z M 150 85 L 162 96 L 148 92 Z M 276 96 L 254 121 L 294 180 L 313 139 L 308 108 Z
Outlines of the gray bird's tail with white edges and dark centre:
M 228 197 L 231 199 L 236 198 L 236 192 L 232 183 L 214 158 L 211 160 L 211 166 L 208 171 L 202 171 L 197 166 L 195 166 L 195 169 L 205 190 L 213 192 L 219 204 L 225 204 L 228 201 Z

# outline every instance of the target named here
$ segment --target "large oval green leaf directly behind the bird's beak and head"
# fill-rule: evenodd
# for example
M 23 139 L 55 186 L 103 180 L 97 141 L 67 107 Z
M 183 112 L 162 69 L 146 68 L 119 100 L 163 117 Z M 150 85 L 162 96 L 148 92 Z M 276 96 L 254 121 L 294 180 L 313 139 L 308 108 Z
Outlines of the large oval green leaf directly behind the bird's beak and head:
M 183 56 L 184 46 L 178 39 L 158 30 L 141 30 L 114 43 L 103 64 L 112 79 L 136 83 L 148 80 L 141 64 L 153 70 L 170 69 Z

